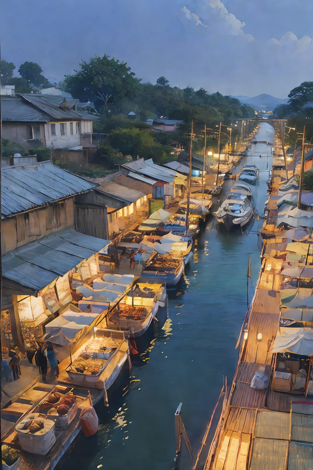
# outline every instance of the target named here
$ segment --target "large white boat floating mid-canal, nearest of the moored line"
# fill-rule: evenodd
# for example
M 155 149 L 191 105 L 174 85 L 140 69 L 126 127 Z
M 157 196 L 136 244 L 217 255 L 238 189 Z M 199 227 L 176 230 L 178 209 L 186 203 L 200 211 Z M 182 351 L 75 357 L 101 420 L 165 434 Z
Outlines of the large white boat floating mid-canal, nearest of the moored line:
M 249 188 L 248 188 L 249 189 Z M 252 193 L 246 188 L 232 188 L 218 211 L 214 212 L 217 222 L 227 230 L 231 227 L 244 227 L 253 217 Z

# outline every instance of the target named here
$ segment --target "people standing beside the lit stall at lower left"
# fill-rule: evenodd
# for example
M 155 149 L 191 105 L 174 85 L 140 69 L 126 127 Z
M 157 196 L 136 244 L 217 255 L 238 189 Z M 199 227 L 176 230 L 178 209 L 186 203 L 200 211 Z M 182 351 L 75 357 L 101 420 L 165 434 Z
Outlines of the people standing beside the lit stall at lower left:
M 46 341 L 41 345 L 37 344 L 37 350 L 34 354 L 27 354 L 27 357 L 31 364 L 36 364 L 39 368 L 39 374 L 42 375 L 44 382 L 46 382 L 46 379 L 54 380 L 59 376 L 58 360 L 50 341 Z M 7 360 L 2 360 L 2 376 L 7 381 L 13 382 L 21 376 L 21 356 L 18 346 L 9 350 L 9 358 L 9 363 Z

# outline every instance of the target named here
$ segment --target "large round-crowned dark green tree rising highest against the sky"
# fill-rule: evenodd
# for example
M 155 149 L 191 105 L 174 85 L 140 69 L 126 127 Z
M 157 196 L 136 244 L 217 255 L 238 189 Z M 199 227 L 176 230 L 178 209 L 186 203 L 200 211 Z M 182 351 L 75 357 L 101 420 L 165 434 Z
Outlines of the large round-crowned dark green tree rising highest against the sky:
M 126 62 L 119 62 L 109 55 L 95 55 L 87 63 L 80 63 L 81 70 L 74 75 L 67 75 L 64 87 L 74 98 L 92 101 L 95 106 L 104 107 L 108 115 L 108 105 L 114 104 L 119 110 L 119 101 L 123 98 L 134 99 L 140 79 L 134 78 Z

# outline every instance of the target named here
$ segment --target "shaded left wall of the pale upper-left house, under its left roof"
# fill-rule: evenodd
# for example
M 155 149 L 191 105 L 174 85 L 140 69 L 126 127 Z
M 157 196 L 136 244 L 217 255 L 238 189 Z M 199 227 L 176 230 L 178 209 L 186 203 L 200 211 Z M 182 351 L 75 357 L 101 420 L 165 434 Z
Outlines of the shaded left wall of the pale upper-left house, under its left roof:
M 27 125 L 31 125 L 33 128 L 34 139 L 27 139 Z M 12 142 L 18 142 L 25 147 L 25 149 L 46 147 L 44 123 L 2 121 L 2 137 Z

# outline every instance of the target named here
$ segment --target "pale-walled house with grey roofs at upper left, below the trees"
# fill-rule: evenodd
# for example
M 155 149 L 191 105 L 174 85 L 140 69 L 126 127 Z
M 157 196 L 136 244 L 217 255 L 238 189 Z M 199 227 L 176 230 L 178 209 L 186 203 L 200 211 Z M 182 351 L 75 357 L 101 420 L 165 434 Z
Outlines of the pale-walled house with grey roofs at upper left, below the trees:
M 2 97 L 2 136 L 18 142 L 25 149 L 95 148 L 92 145 L 92 121 L 97 117 L 86 111 L 72 110 L 69 104 L 75 106 L 62 95 L 30 93 Z

